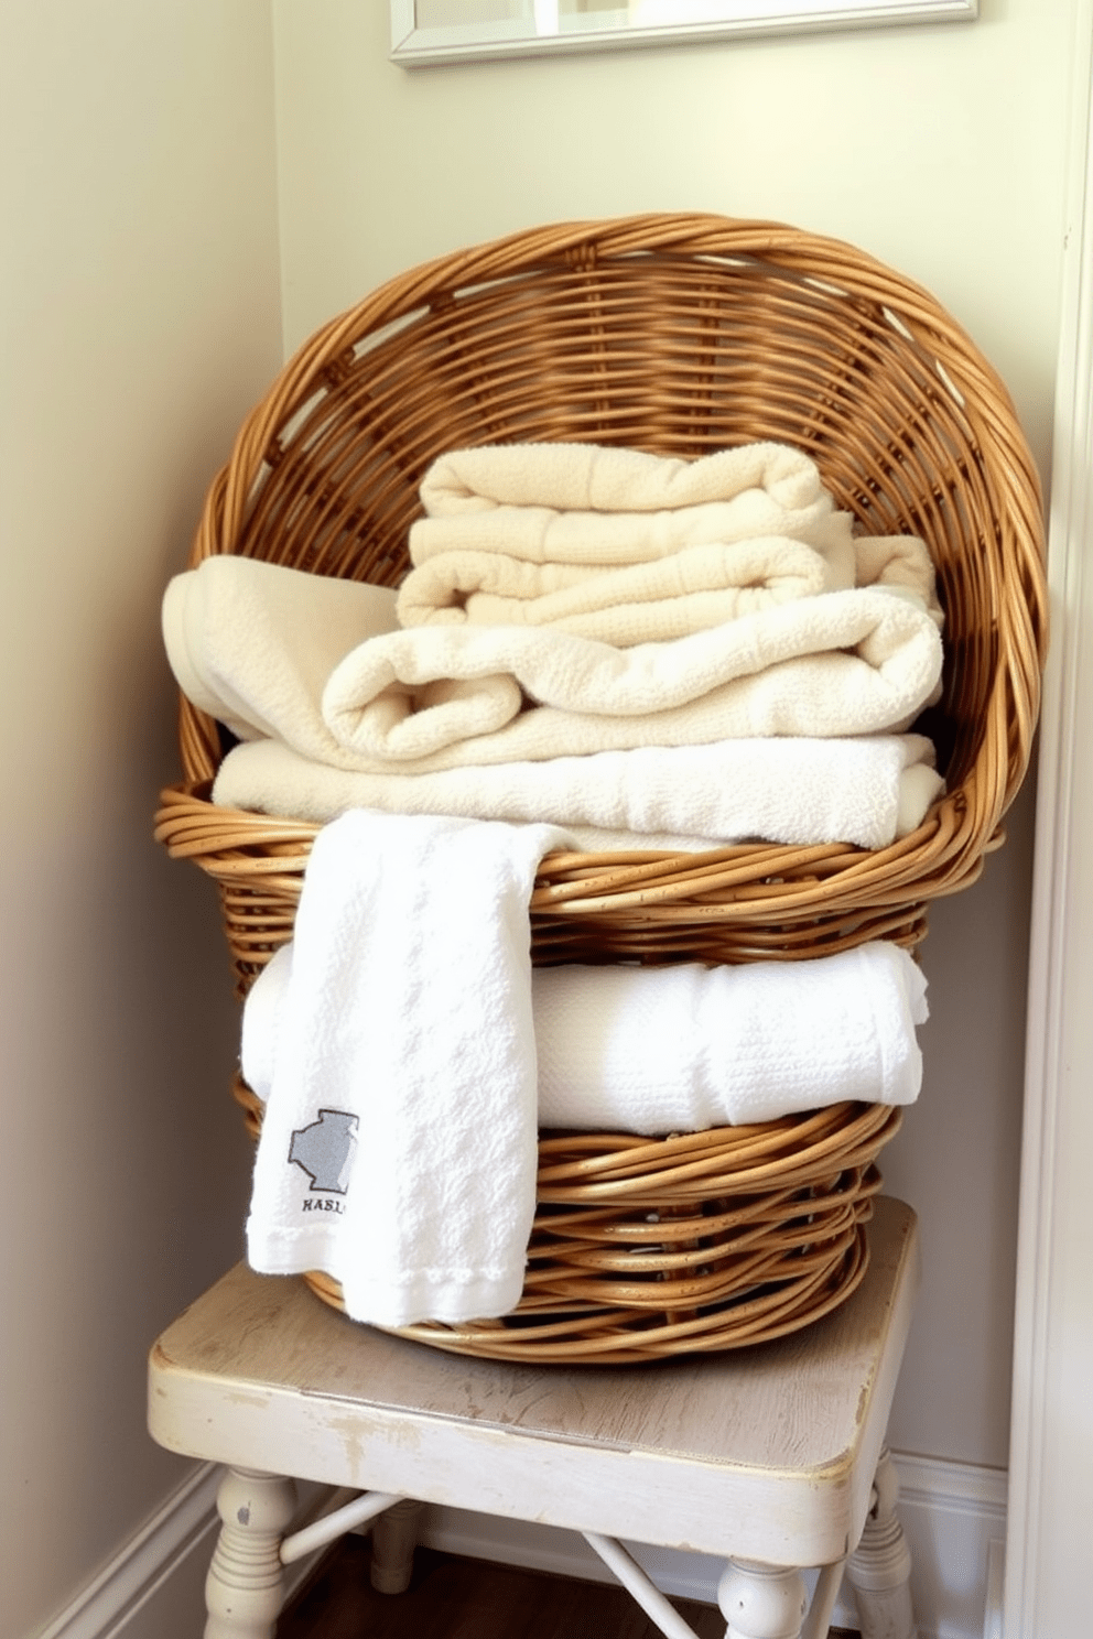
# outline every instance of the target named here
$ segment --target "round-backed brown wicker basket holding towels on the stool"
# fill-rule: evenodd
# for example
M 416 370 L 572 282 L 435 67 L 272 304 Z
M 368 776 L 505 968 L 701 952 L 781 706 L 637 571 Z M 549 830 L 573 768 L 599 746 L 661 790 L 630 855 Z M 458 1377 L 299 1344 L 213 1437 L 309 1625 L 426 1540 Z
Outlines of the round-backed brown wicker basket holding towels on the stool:
M 695 457 L 755 439 L 808 452 L 865 533 L 927 543 L 947 659 L 944 698 L 919 726 L 946 795 L 873 852 L 549 856 L 533 959 L 914 946 L 929 900 L 973 882 L 1000 842 L 1027 765 L 1045 644 L 1042 506 L 996 374 L 931 295 L 860 251 L 772 223 L 654 215 L 539 228 L 413 269 L 287 364 L 210 490 L 192 564 L 239 552 L 397 585 L 421 475 L 447 449 L 590 441 Z M 215 808 L 224 739 L 185 700 L 180 741 L 184 782 L 162 795 L 157 838 L 220 885 L 244 993 L 292 936 L 316 828 Z M 805 1324 L 860 1278 L 872 1162 L 895 1116 L 844 1105 L 787 1139 L 791 1129 L 660 1144 L 544 1136 L 521 1310 L 415 1336 L 619 1360 Z

